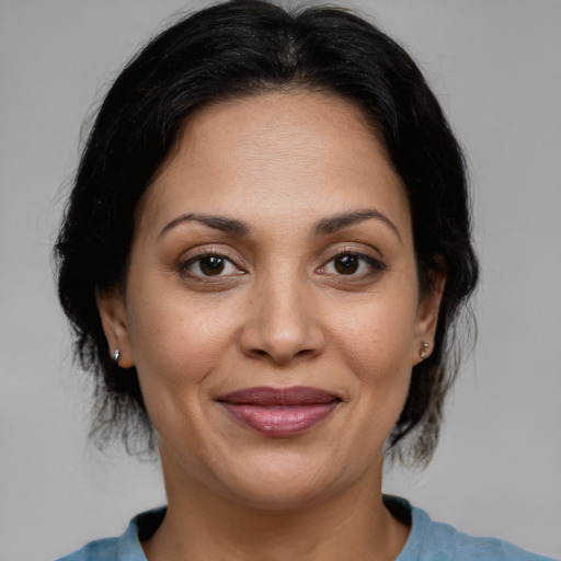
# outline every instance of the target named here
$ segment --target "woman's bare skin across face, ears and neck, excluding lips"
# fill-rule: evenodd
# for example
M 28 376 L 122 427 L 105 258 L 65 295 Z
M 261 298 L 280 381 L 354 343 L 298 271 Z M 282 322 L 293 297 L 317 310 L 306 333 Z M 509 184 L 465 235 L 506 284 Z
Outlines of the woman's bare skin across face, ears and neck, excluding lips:
M 318 231 L 342 213 L 373 216 Z M 383 445 L 432 348 L 444 278 L 420 297 L 408 199 L 363 114 L 306 91 L 207 107 L 136 219 L 126 295 L 99 308 L 160 437 L 169 507 L 148 559 L 394 559 L 409 528 L 381 502 Z M 226 259 L 218 275 L 201 268 L 208 252 Z M 342 274 L 350 253 L 357 268 Z M 271 437 L 216 401 L 255 386 L 341 402 Z

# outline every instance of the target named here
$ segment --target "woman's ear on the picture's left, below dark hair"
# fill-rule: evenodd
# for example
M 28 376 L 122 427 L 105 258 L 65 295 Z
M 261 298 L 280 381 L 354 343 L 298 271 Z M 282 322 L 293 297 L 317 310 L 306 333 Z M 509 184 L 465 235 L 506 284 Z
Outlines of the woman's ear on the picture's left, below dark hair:
M 121 358 L 118 365 L 122 368 L 130 368 L 135 365 L 130 337 L 128 334 L 125 298 L 119 290 L 95 293 L 95 301 L 100 311 L 103 332 L 107 340 L 107 352 L 113 355 L 118 348 Z

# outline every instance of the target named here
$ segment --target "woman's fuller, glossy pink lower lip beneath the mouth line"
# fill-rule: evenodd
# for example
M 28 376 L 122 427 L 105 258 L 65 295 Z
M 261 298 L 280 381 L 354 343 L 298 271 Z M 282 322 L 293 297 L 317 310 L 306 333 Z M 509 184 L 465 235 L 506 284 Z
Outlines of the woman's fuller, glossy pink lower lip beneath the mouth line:
M 290 407 L 261 407 L 220 402 L 230 415 L 253 431 L 266 436 L 294 436 L 304 433 L 328 417 L 339 401 Z

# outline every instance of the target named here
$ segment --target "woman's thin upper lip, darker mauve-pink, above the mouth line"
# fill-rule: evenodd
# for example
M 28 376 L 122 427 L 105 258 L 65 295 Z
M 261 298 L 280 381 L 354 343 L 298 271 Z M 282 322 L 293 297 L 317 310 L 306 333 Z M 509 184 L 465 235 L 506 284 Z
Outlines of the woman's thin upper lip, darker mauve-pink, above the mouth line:
M 319 388 L 293 386 L 290 388 L 247 388 L 226 393 L 218 398 L 218 401 L 262 407 L 296 407 L 324 404 L 341 400 L 337 396 Z

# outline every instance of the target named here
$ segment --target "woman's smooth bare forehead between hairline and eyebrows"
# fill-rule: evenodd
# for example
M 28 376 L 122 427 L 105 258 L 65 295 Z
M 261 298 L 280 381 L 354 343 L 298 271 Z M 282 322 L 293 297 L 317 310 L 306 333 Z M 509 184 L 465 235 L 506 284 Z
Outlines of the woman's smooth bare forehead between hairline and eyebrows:
M 334 95 L 267 92 L 192 115 L 139 205 L 142 228 L 181 213 L 255 221 L 376 207 L 409 221 L 403 186 L 364 113 Z

